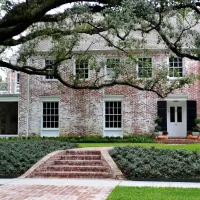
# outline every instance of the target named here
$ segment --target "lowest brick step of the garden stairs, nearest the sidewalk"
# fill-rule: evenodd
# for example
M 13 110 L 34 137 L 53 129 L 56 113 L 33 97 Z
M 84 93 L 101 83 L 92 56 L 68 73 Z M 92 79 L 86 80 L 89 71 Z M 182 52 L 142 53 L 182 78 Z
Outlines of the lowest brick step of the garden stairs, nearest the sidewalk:
M 45 171 L 36 172 L 34 177 L 56 177 L 56 178 L 113 178 L 113 175 L 108 172 L 58 172 Z

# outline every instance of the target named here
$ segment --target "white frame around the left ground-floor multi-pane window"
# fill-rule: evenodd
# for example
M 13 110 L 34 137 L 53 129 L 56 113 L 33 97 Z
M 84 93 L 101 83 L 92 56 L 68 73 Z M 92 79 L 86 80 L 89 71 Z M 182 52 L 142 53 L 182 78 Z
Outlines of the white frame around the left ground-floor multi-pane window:
M 59 130 L 60 127 L 60 97 L 45 96 L 40 97 L 41 100 L 41 130 Z M 58 128 L 44 128 L 43 127 L 43 103 L 44 102 L 58 102 Z

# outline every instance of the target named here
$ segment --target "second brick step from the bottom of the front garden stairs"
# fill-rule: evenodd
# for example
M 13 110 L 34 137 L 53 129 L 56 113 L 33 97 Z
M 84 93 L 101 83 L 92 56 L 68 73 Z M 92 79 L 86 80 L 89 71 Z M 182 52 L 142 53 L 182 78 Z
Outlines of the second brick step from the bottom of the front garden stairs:
M 68 165 L 52 165 L 48 166 L 47 171 L 79 171 L 79 172 L 109 172 L 109 168 L 105 166 L 68 166 Z

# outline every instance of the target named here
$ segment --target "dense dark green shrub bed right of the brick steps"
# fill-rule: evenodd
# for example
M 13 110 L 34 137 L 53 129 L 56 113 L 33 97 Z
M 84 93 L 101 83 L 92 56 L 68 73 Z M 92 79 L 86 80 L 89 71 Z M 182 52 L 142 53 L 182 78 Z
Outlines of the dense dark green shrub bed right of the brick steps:
M 115 147 L 110 155 L 130 180 L 200 178 L 200 154 L 195 151 L 126 146 Z

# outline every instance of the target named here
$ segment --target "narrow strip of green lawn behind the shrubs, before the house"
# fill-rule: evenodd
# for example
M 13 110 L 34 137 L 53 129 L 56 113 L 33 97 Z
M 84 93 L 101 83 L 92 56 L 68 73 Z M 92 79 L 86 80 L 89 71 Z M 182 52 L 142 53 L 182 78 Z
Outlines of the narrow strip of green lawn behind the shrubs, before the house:
M 160 143 L 78 143 L 79 147 L 116 147 L 116 146 L 143 146 L 143 147 L 156 147 L 163 149 L 186 149 L 188 151 L 199 151 L 200 144 L 181 144 L 169 145 Z

